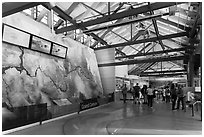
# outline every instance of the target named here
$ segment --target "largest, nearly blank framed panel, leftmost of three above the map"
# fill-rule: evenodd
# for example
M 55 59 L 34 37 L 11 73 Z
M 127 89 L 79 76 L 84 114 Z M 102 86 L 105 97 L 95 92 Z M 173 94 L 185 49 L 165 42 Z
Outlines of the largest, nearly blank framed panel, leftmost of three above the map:
M 4 25 L 3 39 L 4 42 L 15 44 L 22 47 L 29 47 L 30 34 L 17 30 L 10 26 Z

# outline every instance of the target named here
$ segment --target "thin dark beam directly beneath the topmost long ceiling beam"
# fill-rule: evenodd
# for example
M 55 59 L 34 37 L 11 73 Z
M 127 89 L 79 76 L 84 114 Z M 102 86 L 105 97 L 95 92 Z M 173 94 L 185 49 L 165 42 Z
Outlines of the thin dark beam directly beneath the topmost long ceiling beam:
M 161 16 L 166 16 L 166 15 L 169 15 L 169 13 L 150 15 L 150 16 L 145 16 L 145 17 L 142 17 L 142 18 L 136 18 L 134 20 L 128 20 L 128 21 L 121 22 L 121 23 L 114 23 L 114 24 L 99 27 L 99 28 L 89 29 L 87 31 L 84 31 L 84 33 L 90 33 L 90 32 L 93 32 L 93 31 L 99 31 L 99 30 L 104 30 L 104 29 L 109 29 L 109 28 L 120 27 L 120 26 L 131 24 L 131 23 L 141 22 L 141 21 L 144 21 L 144 20 L 150 20 L 150 19 L 154 19 L 154 18 L 158 18 L 158 17 L 161 17 Z

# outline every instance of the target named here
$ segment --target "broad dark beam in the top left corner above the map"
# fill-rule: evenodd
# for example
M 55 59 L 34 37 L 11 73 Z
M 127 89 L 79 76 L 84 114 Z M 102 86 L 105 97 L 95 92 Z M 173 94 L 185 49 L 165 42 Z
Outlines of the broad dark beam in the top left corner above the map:
M 4 2 L 2 3 L 2 17 L 40 5 L 42 2 Z

